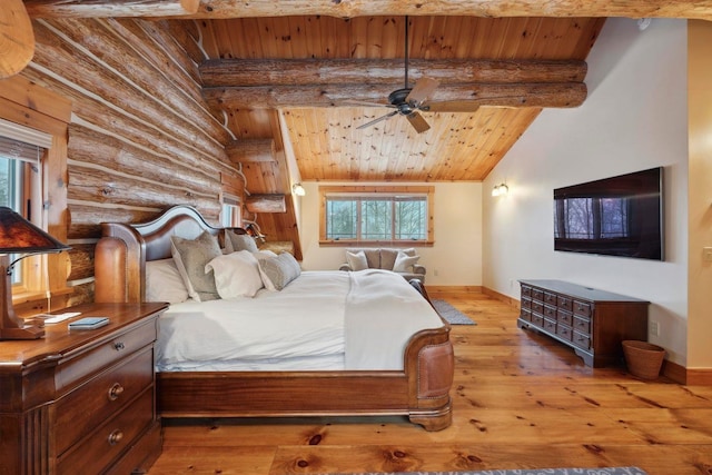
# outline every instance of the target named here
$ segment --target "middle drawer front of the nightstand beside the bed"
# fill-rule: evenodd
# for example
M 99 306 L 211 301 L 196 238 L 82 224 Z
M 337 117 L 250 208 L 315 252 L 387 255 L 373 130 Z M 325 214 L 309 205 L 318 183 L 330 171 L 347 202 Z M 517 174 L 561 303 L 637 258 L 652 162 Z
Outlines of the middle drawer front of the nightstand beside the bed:
M 154 352 L 148 347 L 59 399 L 57 453 L 62 454 L 152 383 Z

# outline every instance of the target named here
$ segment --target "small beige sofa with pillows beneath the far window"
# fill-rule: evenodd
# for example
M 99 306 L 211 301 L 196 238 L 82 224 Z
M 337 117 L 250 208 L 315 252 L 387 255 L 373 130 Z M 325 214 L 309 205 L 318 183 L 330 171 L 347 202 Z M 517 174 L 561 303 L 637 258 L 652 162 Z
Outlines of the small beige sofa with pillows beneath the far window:
M 418 279 L 425 284 L 425 266 L 417 264 L 419 256 L 414 248 L 358 248 L 346 249 L 346 263 L 339 270 L 385 269 L 402 275 L 406 280 Z

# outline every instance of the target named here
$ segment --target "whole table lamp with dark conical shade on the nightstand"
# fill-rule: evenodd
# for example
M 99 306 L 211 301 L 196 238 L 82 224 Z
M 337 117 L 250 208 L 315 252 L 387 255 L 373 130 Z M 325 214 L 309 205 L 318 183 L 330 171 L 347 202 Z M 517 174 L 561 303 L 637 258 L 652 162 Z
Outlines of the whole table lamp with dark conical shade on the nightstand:
M 0 206 L 0 340 L 36 339 L 44 329 L 26 325 L 12 307 L 12 268 L 26 257 L 36 254 L 61 253 L 70 249 L 12 209 Z M 10 263 L 9 254 L 21 254 Z

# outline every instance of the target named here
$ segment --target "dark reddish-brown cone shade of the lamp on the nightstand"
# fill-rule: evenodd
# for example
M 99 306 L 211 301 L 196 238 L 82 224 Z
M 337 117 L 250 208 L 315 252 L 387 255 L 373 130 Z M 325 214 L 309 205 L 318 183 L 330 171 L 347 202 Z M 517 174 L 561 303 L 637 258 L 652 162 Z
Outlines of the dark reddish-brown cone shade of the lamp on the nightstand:
M 0 253 L 59 253 L 70 249 L 22 216 L 0 206 Z

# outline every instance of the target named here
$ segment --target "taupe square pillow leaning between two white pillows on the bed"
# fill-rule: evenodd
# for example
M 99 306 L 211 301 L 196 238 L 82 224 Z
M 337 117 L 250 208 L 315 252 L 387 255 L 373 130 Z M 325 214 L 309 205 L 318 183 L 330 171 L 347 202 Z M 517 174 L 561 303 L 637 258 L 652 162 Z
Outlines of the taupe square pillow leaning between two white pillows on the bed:
M 205 266 L 218 256 L 222 256 L 218 240 L 208 231 L 202 231 L 196 239 L 170 237 L 171 251 L 176 267 L 188 288 L 188 295 L 197 301 L 217 300 L 220 298 L 215 287 L 212 271 L 206 274 Z

